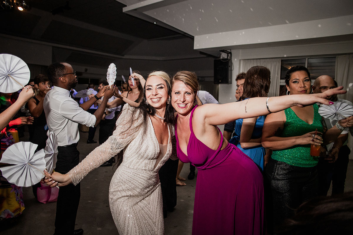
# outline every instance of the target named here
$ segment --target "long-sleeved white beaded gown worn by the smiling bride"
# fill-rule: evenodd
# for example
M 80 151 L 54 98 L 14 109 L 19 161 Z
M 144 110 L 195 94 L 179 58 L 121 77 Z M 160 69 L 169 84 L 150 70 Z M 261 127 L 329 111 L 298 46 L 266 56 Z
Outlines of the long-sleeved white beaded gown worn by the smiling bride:
M 164 234 L 158 170 L 172 155 L 174 126 L 168 125 L 168 130 L 168 144 L 163 147 L 151 119 L 144 123 L 142 112 L 125 104 L 113 135 L 68 173 L 77 185 L 90 171 L 124 150 L 109 186 L 110 211 L 120 235 Z M 177 159 L 174 150 L 172 158 Z

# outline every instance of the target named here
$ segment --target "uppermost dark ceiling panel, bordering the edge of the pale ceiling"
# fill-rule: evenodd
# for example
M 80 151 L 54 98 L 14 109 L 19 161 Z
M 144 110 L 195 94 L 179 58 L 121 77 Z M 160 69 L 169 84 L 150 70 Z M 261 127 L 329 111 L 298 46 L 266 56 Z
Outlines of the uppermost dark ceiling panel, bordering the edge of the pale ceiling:
M 178 33 L 155 25 L 153 22 L 147 22 L 123 13 L 122 7 L 125 5 L 115 0 L 75 0 L 69 1 L 68 5 L 66 2 L 66 0 L 46 0 L 34 2 L 32 5 L 43 11 L 53 12 L 54 10 L 59 16 L 143 39 L 178 35 Z

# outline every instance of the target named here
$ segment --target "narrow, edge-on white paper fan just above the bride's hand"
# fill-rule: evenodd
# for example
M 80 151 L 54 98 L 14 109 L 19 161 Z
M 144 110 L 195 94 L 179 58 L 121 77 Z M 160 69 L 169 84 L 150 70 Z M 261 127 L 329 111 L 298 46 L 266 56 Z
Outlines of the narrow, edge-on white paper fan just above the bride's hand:
M 49 132 L 47 145 L 44 148 L 44 160 L 46 161 L 46 168 L 49 174 L 53 173 L 56 166 L 56 156 L 58 155 L 58 138 L 53 131 Z

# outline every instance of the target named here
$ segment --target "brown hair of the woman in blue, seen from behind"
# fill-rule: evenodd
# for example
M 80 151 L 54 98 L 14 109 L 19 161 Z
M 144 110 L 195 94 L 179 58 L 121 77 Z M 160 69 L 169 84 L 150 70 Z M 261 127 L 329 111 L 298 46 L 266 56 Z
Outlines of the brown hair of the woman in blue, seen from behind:
M 271 83 L 270 70 L 264 66 L 253 66 L 246 72 L 242 99 L 267 97 Z

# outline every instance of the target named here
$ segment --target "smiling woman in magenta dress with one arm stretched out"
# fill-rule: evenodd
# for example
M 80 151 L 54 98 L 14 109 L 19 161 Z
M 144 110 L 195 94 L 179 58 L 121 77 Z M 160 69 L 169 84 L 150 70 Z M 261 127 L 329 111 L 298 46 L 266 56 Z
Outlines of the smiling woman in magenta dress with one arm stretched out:
M 278 112 L 313 103 L 339 91 L 287 97 L 251 98 L 228 104 L 194 106 L 196 74 L 181 71 L 172 79 L 172 105 L 177 111 L 178 157 L 198 168 L 192 234 L 265 234 L 263 178 L 242 151 L 223 138 L 217 125 L 238 118 Z M 332 102 L 331 102 L 332 103 Z

